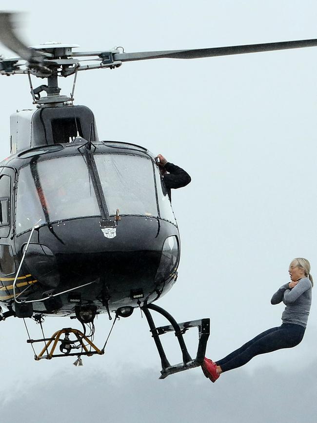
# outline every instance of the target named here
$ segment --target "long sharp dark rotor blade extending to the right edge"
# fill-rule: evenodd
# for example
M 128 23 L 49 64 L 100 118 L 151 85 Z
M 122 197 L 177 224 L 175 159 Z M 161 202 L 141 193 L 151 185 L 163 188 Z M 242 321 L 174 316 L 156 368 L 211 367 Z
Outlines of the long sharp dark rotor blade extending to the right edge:
M 286 50 L 289 48 L 315 47 L 317 39 L 299 41 L 268 42 L 265 44 L 234 45 L 229 47 L 200 48 L 197 50 L 144 51 L 139 53 L 115 53 L 114 60 L 147 59 L 198 59 L 202 57 L 227 56 L 231 54 L 257 53 L 263 51 Z

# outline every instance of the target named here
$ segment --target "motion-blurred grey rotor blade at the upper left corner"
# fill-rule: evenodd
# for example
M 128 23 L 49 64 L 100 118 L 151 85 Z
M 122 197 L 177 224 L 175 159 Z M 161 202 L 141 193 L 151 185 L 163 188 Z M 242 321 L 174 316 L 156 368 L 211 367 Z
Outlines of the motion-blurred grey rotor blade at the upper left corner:
M 17 35 L 16 16 L 16 13 L 0 12 L 0 42 L 29 63 L 41 62 L 44 55 L 28 48 Z

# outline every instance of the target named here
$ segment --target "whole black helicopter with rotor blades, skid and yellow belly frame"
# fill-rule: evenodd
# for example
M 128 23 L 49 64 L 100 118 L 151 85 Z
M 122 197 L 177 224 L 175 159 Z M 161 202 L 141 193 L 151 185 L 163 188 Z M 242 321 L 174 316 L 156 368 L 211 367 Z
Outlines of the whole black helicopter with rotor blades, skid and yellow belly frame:
M 78 72 L 133 60 L 317 46 L 317 40 L 139 53 L 74 52 L 78 46 L 59 43 L 28 48 L 16 34 L 14 14 L 2 12 L 0 41 L 19 55 L 0 59 L 0 74 L 27 75 L 36 104 L 11 115 L 11 156 L 0 163 L 0 302 L 8 310 L 0 320 L 32 318 L 42 327 L 45 316 L 77 318 L 83 331 L 67 327 L 28 342 L 44 343 L 36 360 L 74 355 L 80 365 L 81 355 L 104 352 L 105 345 L 99 349 L 91 340 L 97 314 L 112 319 L 113 313 L 116 322 L 140 307 L 158 348 L 160 378 L 199 366 L 209 319 L 178 324 L 153 304 L 175 283 L 180 255 L 178 225 L 155 156 L 139 145 L 99 140 L 92 111 L 73 104 Z M 31 75 L 47 78 L 47 85 L 33 88 Z M 63 96 L 58 78 L 70 75 L 73 91 Z M 157 328 L 150 310 L 170 325 Z M 183 340 L 191 327 L 198 327 L 195 359 Z M 176 365 L 159 339 L 169 331 L 182 352 Z

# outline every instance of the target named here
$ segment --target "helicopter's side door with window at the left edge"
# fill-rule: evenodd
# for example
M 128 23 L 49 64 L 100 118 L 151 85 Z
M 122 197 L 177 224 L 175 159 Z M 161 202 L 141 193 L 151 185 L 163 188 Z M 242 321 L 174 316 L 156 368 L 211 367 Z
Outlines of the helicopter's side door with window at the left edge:
M 0 276 L 12 275 L 16 271 L 9 235 L 12 222 L 13 169 L 0 169 Z

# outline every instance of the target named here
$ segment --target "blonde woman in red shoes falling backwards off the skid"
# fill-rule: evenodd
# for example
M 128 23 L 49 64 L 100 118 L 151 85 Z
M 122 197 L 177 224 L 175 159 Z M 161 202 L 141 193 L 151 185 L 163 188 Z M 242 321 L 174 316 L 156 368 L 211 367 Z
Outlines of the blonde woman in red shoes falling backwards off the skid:
M 216 382 L 221 373 L 243 366 L 259 354 L 292 348 L 301 342 L 312 302 L 310 263 L 303 258 L 294 259 L 288 272 L 291 282 L 282 285 L 271 299 L 271 304 L 286 305 L 282 325 L 262 332 L 221 360 L 213 362 L 205 357 L 201 368 L 206 378 Z

